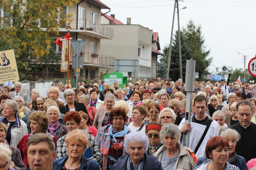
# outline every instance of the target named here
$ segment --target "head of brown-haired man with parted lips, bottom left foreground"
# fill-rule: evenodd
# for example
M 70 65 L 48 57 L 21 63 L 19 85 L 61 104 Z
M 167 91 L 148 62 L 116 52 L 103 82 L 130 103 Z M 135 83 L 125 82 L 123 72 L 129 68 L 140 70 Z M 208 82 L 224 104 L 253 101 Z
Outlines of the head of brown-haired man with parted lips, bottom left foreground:
M 53 170 L 56 158 L 53 139 L 44 133 L 34 134 L 27 143 L 28 164 L 31 170 Z

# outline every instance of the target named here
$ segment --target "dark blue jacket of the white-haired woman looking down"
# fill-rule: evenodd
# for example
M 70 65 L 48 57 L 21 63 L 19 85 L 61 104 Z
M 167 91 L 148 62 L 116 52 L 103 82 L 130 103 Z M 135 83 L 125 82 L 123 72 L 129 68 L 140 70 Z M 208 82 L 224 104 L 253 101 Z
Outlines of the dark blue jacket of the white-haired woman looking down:
M 150 154 L 144 154 L 144 165 L 143 170 L 163 170 L 161 163 L 156 156 Z M 127 170 L 127 161 L 129 154 L 125 154 L 117 160 L 117 163 L 112 167 L 112 170 Z

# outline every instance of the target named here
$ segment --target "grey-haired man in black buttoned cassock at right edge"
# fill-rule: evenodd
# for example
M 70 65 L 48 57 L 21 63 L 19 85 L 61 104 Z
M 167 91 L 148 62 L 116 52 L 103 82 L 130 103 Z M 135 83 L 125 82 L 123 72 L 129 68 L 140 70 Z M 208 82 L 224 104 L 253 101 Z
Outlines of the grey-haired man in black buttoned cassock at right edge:
M 230 126 L 231 129 L 236 130 L 241 139 L 236 145 L 236 154 L 243 156 L 245 161 L 248 162 L 252 158 L 255 158 L 256 148 L 256 124 L 251 123 L 253 115 L 253 106 L 250 101 L 240 100 L 237 102 L 237 117 L 239 123 Z

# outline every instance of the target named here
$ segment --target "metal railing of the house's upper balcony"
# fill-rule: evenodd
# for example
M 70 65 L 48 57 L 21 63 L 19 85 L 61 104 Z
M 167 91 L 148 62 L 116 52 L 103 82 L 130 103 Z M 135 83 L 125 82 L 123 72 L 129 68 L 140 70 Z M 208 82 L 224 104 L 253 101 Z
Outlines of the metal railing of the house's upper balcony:
M 113 28 L 106 27 L 97 22 L 93 22 L 87 19 L 71 19 L 72 22 L 63 24 L 61 28 L 70 28 L 71 30 L 80 30 L 80 28 L 84 28 L 86 31 L 96 32 L 98 34 L 102 34 L 104 36 L 108 36 L 113 38 L 114 30 Z

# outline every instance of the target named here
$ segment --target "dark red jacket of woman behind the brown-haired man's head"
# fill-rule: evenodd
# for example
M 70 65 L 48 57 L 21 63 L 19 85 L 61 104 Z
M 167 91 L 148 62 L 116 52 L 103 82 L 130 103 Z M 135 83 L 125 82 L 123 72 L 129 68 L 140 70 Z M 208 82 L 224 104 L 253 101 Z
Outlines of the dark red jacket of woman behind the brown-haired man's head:
M 46 133 L 47 135 L 49 135 L 51 138 L 53 138 L 53 141 L 55 143 L 55 150 L 57 148 L 57 137 L 52 135 L 52 134 L 49 134 L 49 133 Z M 22 156 L 22 160 L 23 160 L 23 163 L 26 165 L 26 168 L 28 168 L 28 155 L 27 155 L 27 142 L 28 142 L 28 139 L 33 135 L 33 133 L 30 133 L 30 134 L 27 134 L 25 136 L 23 136 L 18 145 L 17 145 L 17 148 L 19 149 L 20 151 L 20 155 Z

